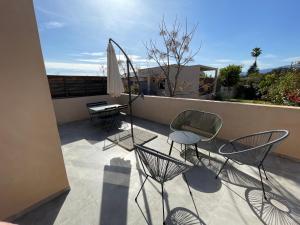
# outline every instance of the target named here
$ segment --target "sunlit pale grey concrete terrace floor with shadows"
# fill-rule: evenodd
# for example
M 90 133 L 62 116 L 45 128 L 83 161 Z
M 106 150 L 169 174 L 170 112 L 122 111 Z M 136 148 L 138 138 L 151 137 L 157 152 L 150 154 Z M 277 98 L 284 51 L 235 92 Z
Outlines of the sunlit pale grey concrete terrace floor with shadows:
M 167 126 L 135 119 L 135 126 L 158 134 L 146 146 L 167 153 Z M 19 218 L 20 225 L 143 225 L 162 224 L 160 185 L 150 180 L 138 204 L 134 198 L 143 182 L 136 155 L 118 146 L 103 150 L 101 127 L 80 121 L 59 127 L 63 156 L 71 190 Z M 221 143 L 221 142 L 220 142 Z M 219 144 L 220 144 L 219 143 Z M 105 141 L 105 145 L 109 142 Z M 179 150 L 179 145 L 174 145 Z M 209 148 L 208 146 L 201 146 Z M 207 154 L 206 151 L 203 153 Z M 172 155 L 182 159 L 179 151 Z M 265 164 L 269 180 L 268 201 L 263 200 L 258 170 L 245 165 L 225 167 L 219 179 L 216 171 L 224 161 L 212 154 L 187 172 L 193 199 L 182 176 L 165 185 L 167 224 L 299 224 L 300 164 L 274 155 Z M 195 203 L 195 205 L 194 205 Z

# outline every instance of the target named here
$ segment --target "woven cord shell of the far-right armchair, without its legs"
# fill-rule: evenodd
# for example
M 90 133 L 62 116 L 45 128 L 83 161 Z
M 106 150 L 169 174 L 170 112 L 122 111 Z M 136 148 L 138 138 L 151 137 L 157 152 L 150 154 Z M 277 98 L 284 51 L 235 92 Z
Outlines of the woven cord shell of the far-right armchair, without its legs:
M 288 135 L 287 130 L 263 131 L 234 139 L 230 141 L 230 144 L 221 147 L 220 152 L 225 154 L 242 153 L 243 163 L 259 165 Z

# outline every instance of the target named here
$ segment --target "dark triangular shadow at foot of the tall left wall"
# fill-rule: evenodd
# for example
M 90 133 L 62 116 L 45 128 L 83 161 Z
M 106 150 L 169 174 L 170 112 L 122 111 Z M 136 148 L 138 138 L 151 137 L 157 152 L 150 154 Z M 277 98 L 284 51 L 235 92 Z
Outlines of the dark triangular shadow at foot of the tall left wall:
M 30 211 L 24 216 L 18 218 L 14 221 L 15 224 L 20 225 L 52 225 L 54 224 L 57 215 L 60 212 L 61 207 L 63 206 L 65 199 L 69 191 L 64 192 L 55 199 L 47 202 L 37 209 Z

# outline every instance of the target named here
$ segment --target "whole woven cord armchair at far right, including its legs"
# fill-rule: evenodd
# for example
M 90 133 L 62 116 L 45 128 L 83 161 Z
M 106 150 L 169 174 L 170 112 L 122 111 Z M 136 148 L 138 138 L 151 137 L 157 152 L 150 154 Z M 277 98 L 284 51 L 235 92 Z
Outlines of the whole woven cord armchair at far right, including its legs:
M 264 171 L 265 177 L 268 180 L 263 163 L 268 154 L 274 151 L 274 149 L 287 138 L 288 134 L 289 132 L 287 130 L 264 131 L 240 137 L 222 145 L 219 149 L 219 153 L 223 155 L 226 160 L 221 166 L 216 178 L 218 178 L 229 159 L 238 164 L 256 166 L 259 171 L 264 198 L 267 200 L 261 169 Z

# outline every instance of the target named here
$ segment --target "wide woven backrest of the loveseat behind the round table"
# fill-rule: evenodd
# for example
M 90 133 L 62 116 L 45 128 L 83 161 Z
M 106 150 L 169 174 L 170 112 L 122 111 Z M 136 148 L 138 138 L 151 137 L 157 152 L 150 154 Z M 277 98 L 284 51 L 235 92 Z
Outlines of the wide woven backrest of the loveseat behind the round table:
M 172 130 L 192 131 L 207 138 L 216 136 L 222 127 L 222 119 L 215 113 L 186 110 L 172 121 Z

